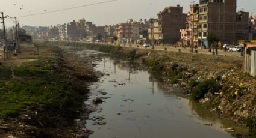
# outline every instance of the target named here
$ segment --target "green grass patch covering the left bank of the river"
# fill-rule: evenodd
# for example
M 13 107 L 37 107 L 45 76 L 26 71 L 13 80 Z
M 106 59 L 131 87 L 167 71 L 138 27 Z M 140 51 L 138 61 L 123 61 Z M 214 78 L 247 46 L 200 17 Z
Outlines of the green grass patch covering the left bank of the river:
M 69 80 L 61 65 L 61 61 L 51 58 L 13 68 L 15 76 L 39 77 L 36 80 L 11 80 L 10 68 L 1 67 L 0 118 L 18 116 L 27 110 L 44 110 L 49 116 L 77 115 L 87 88 Z

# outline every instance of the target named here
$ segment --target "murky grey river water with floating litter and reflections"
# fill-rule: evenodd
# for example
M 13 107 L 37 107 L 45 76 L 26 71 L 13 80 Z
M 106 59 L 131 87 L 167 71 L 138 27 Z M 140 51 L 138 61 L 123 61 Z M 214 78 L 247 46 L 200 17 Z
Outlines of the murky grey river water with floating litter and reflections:
M 84 51 L 81 56 L 99 53 Z M 92 55 L 91 55 L 92 56 Z M 87 106 L 96 112 L 89 118 L 104 117 L 105 125 L 87 120 L 86 128 L 95 131 L 90 138 L 131 137 L 233 137 L 223 129 L 233 127 L 238 133 L 243 128 L 222 121 L 189 98 L 182 96 L 178 86 L 167 85 L 161 76 L 134 67 L 129 62 L 102 58 L 95 70 L 106 75 L 90 86 Z M 105 94 L 107 92 L 107 94 Z M 96 97 L 105 97 L 98 106 Z M 102 122 L 100 121 L 100 122 Z

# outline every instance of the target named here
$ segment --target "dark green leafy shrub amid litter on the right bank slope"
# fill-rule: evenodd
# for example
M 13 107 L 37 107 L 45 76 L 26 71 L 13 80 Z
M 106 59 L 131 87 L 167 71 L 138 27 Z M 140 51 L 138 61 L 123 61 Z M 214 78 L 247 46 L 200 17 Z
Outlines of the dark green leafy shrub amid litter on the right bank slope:
M 198 86 L 192 89 L 193 100 L 199 100 L 204 97 L 207 92 L 219 92 L 220 85 L 214 79 L 204 80 Z

